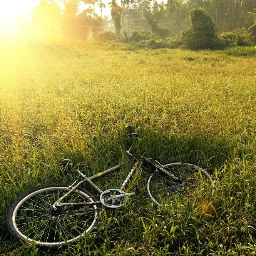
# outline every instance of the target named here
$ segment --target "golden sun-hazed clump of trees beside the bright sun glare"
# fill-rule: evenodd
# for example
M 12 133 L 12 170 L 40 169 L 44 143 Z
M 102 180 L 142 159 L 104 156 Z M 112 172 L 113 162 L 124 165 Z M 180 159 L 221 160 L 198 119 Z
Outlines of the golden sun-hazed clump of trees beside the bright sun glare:
M 88 8 L 79 13 L 81 2 Z M 97 2 L 92 0 L 41 0 L 32 10 L 30 34 L 44 40 L 87 40 L 89 35 L 95 36 L 104 31 L 104 20 L 95 13 L 95 4 Z M 100 6 L 102 9 L 105 4 L 100 2 Z

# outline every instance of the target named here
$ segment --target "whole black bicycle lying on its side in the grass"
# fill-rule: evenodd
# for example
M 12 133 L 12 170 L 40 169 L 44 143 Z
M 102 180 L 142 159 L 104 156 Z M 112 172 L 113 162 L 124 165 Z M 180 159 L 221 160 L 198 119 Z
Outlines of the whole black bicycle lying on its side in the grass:
M 66 170 L 73 169 L 80 179 L 72 185 L 48 185 L 33 189 L 15 201 L 8 213 L 8 229 L 21 242 L 34 243 L 37 248 L 48 250 L 66 247 L 88 234 L 98 223 L 99 212 L 116 209 L 125 204 L 128 197 L 139 194 L 138 182 L 134 192 L 126 192 L 127 184 L 139 166 L 151 167 L 146 176 L 146 195 L 156 206 L 165 207 L 174 200 L 192 197 L 197 191 L 214 191 L 214 181 L 202 166 L 193 162 L 172 161 L 160 164 L 157 160 L 132 154 L 133 139 L 138 136 L 129 125 L 130 148 L 126 154 L 135 161 L 120 189 L 102 191 L 92 180 L 119 170 L 125 163 L 87 177 L 69 159 L 60 164 Z M 99 200 L 83 189 L 87 184 L 99 193 Z M 101 208 L 99 208 L 100 206 Z

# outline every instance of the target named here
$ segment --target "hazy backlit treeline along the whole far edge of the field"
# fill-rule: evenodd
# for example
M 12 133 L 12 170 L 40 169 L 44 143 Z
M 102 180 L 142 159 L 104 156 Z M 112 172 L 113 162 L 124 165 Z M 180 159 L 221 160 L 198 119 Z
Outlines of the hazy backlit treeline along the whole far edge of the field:
M 85 4 L 85 10 L 79 13 L 81 3 Z M 110 7 L 111 18 L 102 17 L 106 5 Z M 100 9 L 100 14 L 95 12 L 95 7 Z M 235 44 L 238 38 L 241 39 L 240 44 L 245 39 L 256 40 L 256 0 L 167 0 L 161 3 L 155 0 L 120 0 L 119 3 L 117 0 L 109 3 L 102 0 L 41 0 L 29 20 L 33 30 L 30 34 L 43 40 L 99 40 L 100 34 L 112 30 L 115 33 L 115 42 L 167 38 L 168 42 L 172 41 L 171 45 L 177 46 L 182 44 L 184 33 L 188 35 L 193 27 L 191 10 L 198 8 L 208 13 L 214 30 L 204 36 L 217 42 L 220 38 L 216 36 L 217 31 L 236 30 L 235 33 L 222 36 L 226 40 L 225 44 L 228 40 Z M 203 23 L 202 19 L 201 22 L 199 19 L 200 23 Z M 102 36 L 104 37 L 106 34 Z M 113 35 L 108 37 L 111 39 Z M 206 38 L 199 37 L 199 40 Z M 223 41 L 218 41 L 218 44 L 224 45 Z

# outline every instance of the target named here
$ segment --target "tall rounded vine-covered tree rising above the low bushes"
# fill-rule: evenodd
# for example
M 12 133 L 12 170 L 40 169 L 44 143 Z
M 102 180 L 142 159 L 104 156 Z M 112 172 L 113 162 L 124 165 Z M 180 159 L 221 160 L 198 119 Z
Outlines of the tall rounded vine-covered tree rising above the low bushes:
M 216 28 L 210 15 L 202 8 L 190 11 L 190 27 L 182 32 L 183 46 L 191 50 L 212 48 Z

